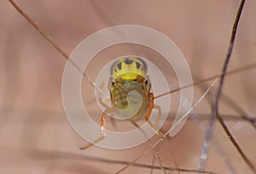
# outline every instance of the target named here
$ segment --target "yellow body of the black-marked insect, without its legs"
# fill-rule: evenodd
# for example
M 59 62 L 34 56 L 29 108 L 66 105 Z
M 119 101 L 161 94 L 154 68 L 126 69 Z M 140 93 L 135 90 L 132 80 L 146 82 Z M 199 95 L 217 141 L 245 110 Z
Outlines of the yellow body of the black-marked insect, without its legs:
M 125 109 L 135 101 L 129 100 L 128 94 L 137 91 L 142 96 L 142 106 L 130 119 L 143 117 L 149 104 L 151 84 L 146 75 L 146 64 L 138 57 L 125 57 L 116 61 L 111 68 L 109 91 L 111 102 L 116 109 Z M 133 103 L 133 104 L 134 104 Z

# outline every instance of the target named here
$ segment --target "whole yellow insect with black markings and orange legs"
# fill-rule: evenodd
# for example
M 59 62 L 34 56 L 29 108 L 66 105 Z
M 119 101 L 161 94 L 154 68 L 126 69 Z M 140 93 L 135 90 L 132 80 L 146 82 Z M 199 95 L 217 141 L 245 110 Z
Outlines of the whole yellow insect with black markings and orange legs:
M 154 125 L 149 120 L 153 108 L 159 110 L 158 117 L 160 117 L 160 107 L 154 105 L 154 94 L 150 92 L 151 83 L 146 72 L 146 64 L 139 57 L 128 56 L 120 58 L 118 61 L 113 63 L 113 66 L 111 67 L 111 76 L 108 83 L 108 90 L 113 107 L 109 107 L 102 114 L 101 136 L 88 146 L 80 148 L 81 150 L 90 148 L 97 142 L 102 141 L 102 139 L 106 136 L 105 123 L 107 113 L 112 113 L 116 110 L 125 110 L 125 113 L 128 114 L 129 119 L 132 120 L 141 119 L 144 117 L 154 132 L 160 135 L 159 131 L 156 130 Z M 128 97 L 132 91 L 136 91 L 137 95 L 139 96 Z M 137 100 L 138 97 L 142 97 L 139 98 L 141 100 Z M 129 101 L 128 98 L 130 99 Z M 139 106 L 138 109 L 136 109 L 136 106 Z M 124 116 L 124 112 L 119 112 L 119 114 L 120 117 Z

